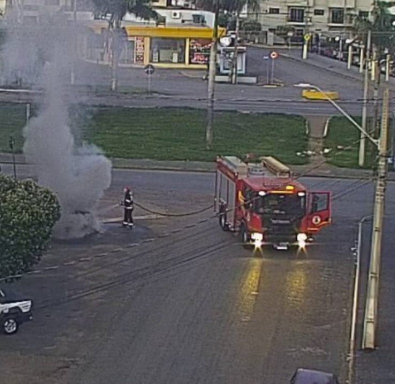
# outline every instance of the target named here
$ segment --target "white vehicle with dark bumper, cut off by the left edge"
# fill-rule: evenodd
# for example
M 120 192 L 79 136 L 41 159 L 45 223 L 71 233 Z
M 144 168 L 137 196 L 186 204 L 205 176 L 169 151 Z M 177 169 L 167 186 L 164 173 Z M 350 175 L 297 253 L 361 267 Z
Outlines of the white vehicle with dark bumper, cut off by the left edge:
M 19 325 L 32 319 L 31 299 L 20 298 L 0 288 L 0 327 L 3 333 L 13 334 Z

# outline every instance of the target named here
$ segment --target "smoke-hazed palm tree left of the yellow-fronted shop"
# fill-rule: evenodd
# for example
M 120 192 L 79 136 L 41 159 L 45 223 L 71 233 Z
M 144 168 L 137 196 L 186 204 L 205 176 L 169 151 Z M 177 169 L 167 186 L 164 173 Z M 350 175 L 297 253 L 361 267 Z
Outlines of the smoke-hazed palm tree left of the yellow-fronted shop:
M 76 1 L 76 0 L 74 0 Z M 116 91 L 118 87 L 118 60 L 119 60 L 119 38 L 122 35 L 120 27 L 126 12 L 135 14 L 144 20 L 158 18 L 158 14 L 150 7 L 150 0 L 93 0 L 97 12 L 108 19 L 108 29 L 112 31 L 111 44 L 111 67 L 112 79 L 111 90 Z

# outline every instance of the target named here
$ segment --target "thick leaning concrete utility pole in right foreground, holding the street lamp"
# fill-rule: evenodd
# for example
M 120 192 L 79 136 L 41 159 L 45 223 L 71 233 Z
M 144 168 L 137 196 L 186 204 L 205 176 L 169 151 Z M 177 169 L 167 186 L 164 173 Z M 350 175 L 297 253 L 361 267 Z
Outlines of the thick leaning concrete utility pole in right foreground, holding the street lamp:
M 378 288 L 380 275 L 381 239 L 385 205 L 386 158 L 388 141 L 389 90 L 385 89 L 382 100 L 381 130 L 376 191 L 374 196 L 373 232 L 370 250 L 370 265 L 367 281 L 365 313 L 363 318 L 362 348 L 374 349 L 378 317 Z

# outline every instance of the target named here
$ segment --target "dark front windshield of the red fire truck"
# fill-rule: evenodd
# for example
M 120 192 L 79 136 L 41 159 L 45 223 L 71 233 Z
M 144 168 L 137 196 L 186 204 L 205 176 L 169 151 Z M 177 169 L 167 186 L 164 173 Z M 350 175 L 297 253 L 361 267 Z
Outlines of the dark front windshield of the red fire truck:
M 303 216 L 305 207 L 305 195 L 273 193 L 257 198 L 254 210 L 260 214 Z

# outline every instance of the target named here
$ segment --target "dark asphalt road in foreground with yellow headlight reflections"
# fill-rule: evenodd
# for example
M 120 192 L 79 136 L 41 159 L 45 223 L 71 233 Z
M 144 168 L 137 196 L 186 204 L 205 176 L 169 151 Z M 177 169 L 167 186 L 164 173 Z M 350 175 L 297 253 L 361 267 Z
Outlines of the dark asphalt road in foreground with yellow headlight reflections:
M 212 174 L 129 170 L 114 172 L 106 198 L 125 179 L 161 210 L 212 201 Z M 1 338 L 8 382 L 280 384 L 298 366 L 344 379 L 349 248 L 357 219 L 371 211 L 372 185 L 302 181 L 334 193 L 333 225 L 307 254 L 253 257 L 215 219 L 189 226 L 209 211 L 141 221 L 132 231 L 108 225 L 99 236 L 54 243 L 40 268 L 79 261 L 18 282 L 35 300 L 35 320 Z

